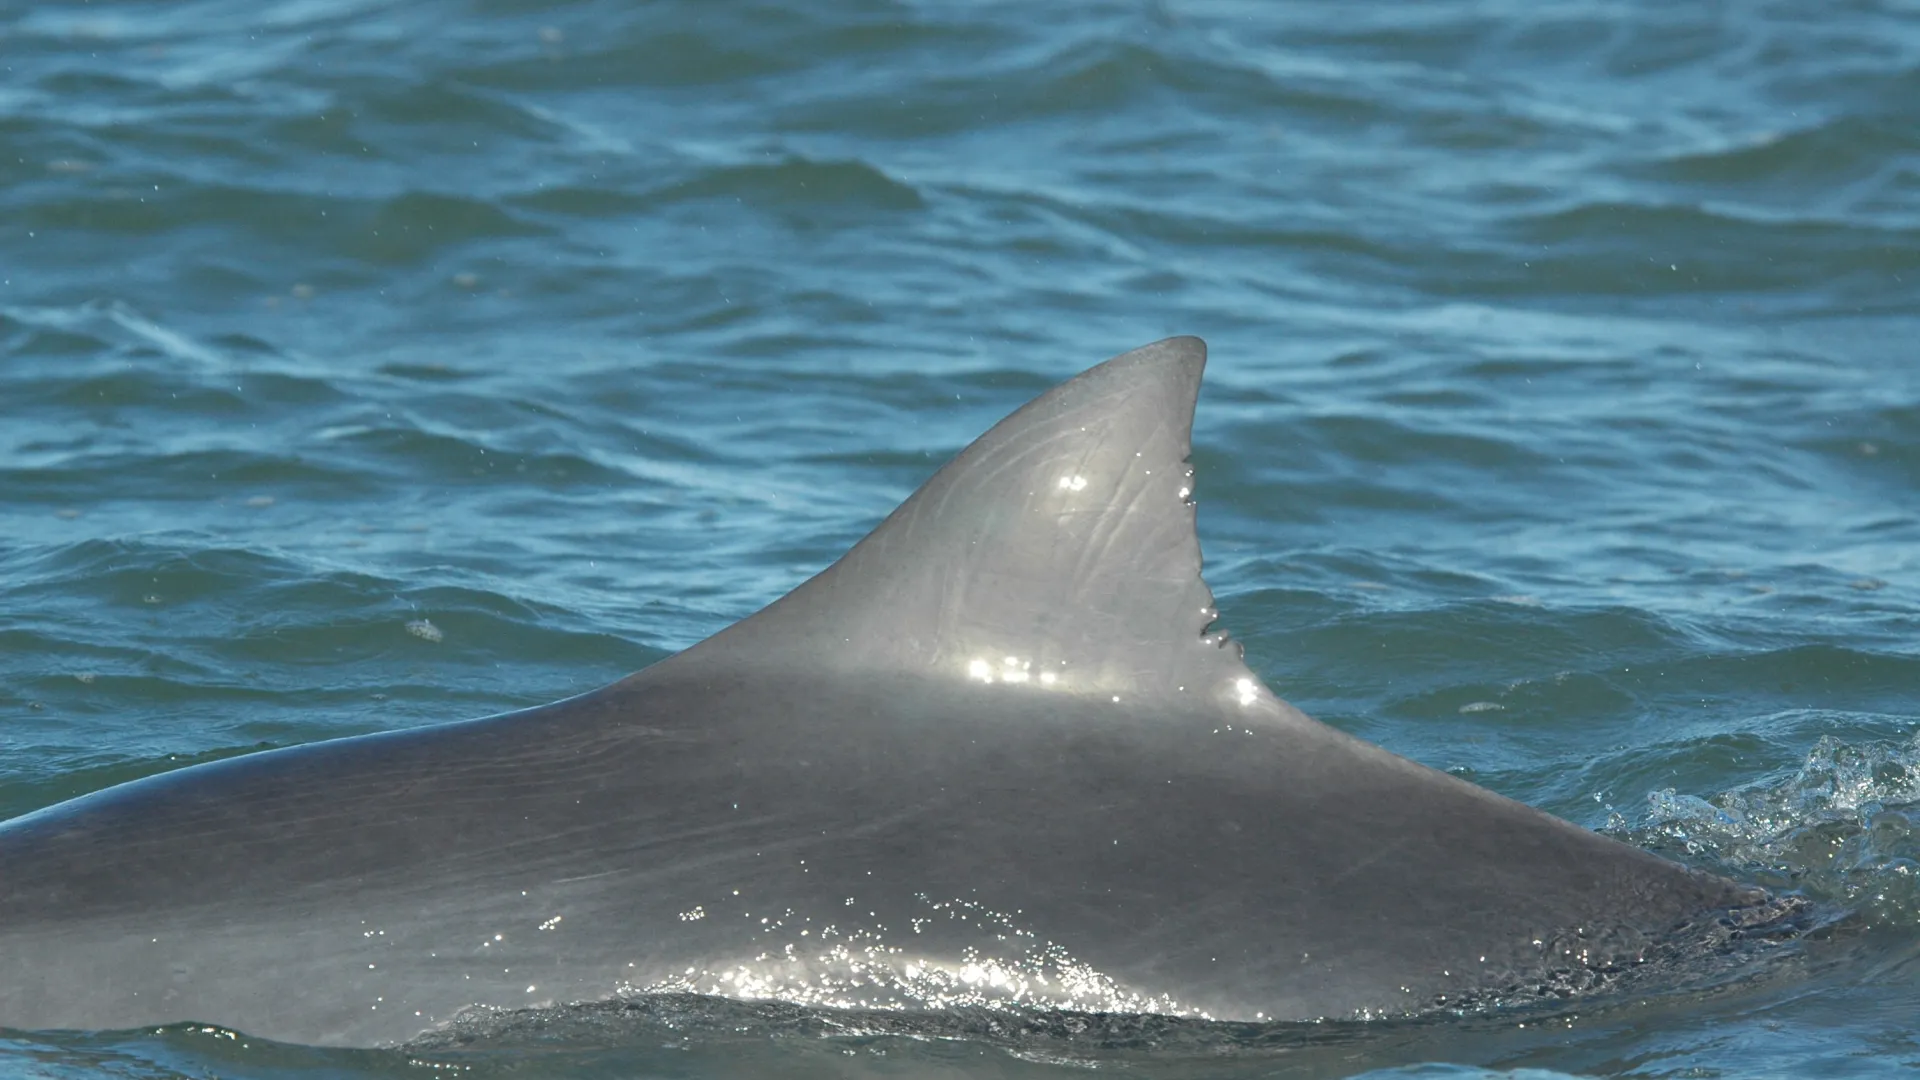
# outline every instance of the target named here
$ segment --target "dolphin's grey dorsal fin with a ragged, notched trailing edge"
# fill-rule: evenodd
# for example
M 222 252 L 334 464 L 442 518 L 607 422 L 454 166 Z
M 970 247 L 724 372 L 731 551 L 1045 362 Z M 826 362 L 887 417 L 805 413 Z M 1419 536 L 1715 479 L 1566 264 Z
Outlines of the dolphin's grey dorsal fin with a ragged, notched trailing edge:
M 1238 646 L 1206 634 L 1187 465 L 1204 367 L 1200 338 L 1167 338 L 1041 394 L 837 563 L 682 655 L 1250 698 Z

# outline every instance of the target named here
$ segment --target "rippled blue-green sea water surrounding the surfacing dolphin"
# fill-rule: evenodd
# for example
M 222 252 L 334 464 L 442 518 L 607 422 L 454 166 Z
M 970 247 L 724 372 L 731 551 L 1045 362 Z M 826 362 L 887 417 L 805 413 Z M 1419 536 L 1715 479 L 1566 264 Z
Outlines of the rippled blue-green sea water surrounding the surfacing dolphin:
M 0 1072 L 1907 1074 L 1916 282 L 1910 2 L 0 6 L 0 817 L 618 678 L 1196 332 L 1208 580 L 1277 692 L 1847 913 L 1546 1026 Z

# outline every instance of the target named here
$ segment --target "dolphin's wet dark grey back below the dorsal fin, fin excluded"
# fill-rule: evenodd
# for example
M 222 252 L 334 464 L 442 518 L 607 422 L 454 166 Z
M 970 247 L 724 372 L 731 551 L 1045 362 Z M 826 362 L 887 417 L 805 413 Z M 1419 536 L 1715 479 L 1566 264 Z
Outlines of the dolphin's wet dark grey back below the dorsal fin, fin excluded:
M 954 905 L 1108 980 L 1056 1005 L 1398 1015 L 1636 963 L 1755 899 L 1313 721 L 1106 705 L 641 676 L 156 776 L 0 832 L 0 1017 L 365 1045 L 689 970 L 804 999 L 768 945 L 837 926 L 958 969 L 991 938 Z

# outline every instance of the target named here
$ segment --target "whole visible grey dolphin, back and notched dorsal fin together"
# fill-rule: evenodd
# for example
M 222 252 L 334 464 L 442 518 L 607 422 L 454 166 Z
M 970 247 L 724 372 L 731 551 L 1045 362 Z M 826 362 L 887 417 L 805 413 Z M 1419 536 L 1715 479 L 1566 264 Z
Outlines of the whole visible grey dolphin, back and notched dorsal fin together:
M 1200 578 L 1204 365 L 1169 338 L 1043 394 L 603 690 L 0 824 L 0 1026 L 394 1045 L 649 992 L 1400 1017 L 1770 903 L 1275 698 Z

